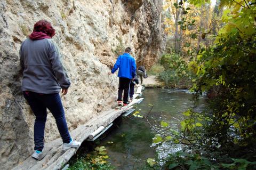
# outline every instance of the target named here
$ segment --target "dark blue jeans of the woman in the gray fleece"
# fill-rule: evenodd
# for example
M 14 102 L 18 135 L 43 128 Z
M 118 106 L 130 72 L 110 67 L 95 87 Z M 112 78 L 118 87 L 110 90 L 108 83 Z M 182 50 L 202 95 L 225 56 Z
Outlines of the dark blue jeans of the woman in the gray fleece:
M 34 149 L 42 151 L 44 148 L 44 128 L 47 117 L 46 108 L 51 111 L 56 120 L 63 143 L 69 143 L 71 137 L 68 132 L 65 112 L 59 93 L 39 94 L 34 92 L 23 92 L 23 95 L 36 116 L 34 126 Z

